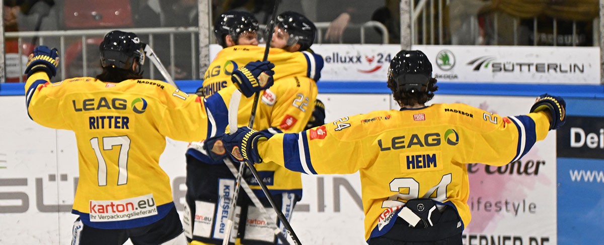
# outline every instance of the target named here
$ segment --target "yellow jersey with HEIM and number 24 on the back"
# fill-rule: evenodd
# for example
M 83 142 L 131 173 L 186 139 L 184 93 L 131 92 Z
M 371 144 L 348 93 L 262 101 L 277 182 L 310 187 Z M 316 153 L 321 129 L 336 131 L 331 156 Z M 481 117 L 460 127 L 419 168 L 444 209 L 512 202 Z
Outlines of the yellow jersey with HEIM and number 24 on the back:
M 340 118 L 301 133 L 274 135 L 258 148 L 263 161 L 301 173 L 359 171 L 369 240 L 385 234 L 410 199 L 453 206 L 461 225 L 467 225 L 466 164 L 516 161 L 547 136 L 549 127 L 546 112 L 503 117 L 466 104 L 433 104 Z

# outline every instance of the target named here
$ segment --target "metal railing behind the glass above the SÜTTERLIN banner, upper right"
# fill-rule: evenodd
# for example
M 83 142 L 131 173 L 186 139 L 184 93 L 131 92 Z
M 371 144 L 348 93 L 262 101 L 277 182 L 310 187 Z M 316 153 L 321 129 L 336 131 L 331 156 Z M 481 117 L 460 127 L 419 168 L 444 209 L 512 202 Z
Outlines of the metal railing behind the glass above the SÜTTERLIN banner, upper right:
M 532 33 L 527 38 L 525 28 L 520 27 L 521 19 L 519 17 L 509 16 L 507 14 L 500 13 L 499 11 L 492 11 L 490 13 L 484 13 L 482 31 L 479 28 L 478 16 L 467 16 L 464 20 L 464 30 L 447 30 L 449 20 L 445 19 L 443 13 L 445 9 L 451 4 L 450 0 L 420 0 L 415 4 L 416 1 L 411 1 L 411 42 L 419 45 L 534 45 L 537 46 L 539 43 L 547 42 L 551 40 L 553 46 L 577 46 L 580 45 L 582 37 L 577 30 L 577 21 L 571 22 L 571 29 L 568 31 L 570 34 L 560 36 L 559 33 L 559 20 L 552 18 L 551 25 L 552 34 L 544 36 L 539 34 L 538 17 L 531 19 L 525 19 L 525 21 L 532 22 L 530 28 Z M 451 16 L 452 17 L 452 16 Z M 506 26 L 511 27 L 509 33 L 500 30 L 502 17 L 507 17 Z M 457 18 L 456 21 L 460 21 L 461 18 Z M 590 35 L 593 37 L 593 45 L 599 45 L 599 25 L 594 19 L 593 33 L 583 33 L 584 35 Z M 551 36 L 551 38 L 550 38 Z M 525 37 L 526 40 L 522 42 L 519 40 L 521 37 Z M 584 38 L 585 36 L 583 36 Z M 532 40 L 531 40 L 532 39 Z M 561 43 L 562 42 L 564 43 Z M 550 45 L 550 42 L 547 42 Z

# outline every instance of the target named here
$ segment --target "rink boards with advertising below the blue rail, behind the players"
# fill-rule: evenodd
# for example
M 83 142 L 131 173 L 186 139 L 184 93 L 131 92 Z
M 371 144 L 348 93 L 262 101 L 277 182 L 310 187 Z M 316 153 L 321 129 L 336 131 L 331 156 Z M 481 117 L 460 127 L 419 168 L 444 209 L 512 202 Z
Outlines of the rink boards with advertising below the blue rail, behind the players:
M 321 93 L 318 98 L 326 104 L 326 121 L 397 108 L 390 95 L 381 93 Z M 70 213 L 78 176 L 74 135 L 33 123 L 24 100 L 23 96 L 0 97 L 0 243 L 66 244 L 76 218 Z M 526 113 L 533 100 L 450 92 L 431 102 L 467 103 L 501 115 L 518 115 Z M 604 203 L 604 179 L 599 176 L 604 160 L 597 156 L 604 155 L 600 147 L 604 102 L 571 98 L 567 104 L 568 127 L 538 142 L 515 167 L 472 165 L 468 204 L 473 217 L 464 234 L 465 244 L 575 244 L 604 238 L 602 232 L 593 232 L 602 227 L 603 220 L 599 207 Z M 583 148 L 566 142 L 575 128 L 573 145 L 579 144 L 578 127 L 585 134 Z M 565 157 L 557 158 L 554 148 Z M 184 152 L 184 142 L 169 140 L 161 157 L 179 211 L 185 193 Z M 591 180 L 581 180 L 572 171 L 596 174 Z M 358 174 L 304 176 L 303 183 L 304 196 L 292 218 L 300 240 L 304 244 L 364 244 Z

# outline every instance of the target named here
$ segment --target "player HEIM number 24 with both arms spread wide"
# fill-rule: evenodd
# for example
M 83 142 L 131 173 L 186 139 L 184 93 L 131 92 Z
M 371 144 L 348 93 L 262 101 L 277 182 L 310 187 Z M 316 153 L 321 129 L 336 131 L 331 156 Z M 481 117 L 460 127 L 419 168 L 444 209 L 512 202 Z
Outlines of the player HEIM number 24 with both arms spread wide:
M 251 163 L 306 174 L 359 171 L 368 244 L 462 244 L 471 220 L 466 164 L 521 158 L 564 124 L 565 102 L 544 94 L 519 116 L 466 104 L 426 106 L 437 90 L 431 73 L 423 52 L 400 51 L 388 73 L 400 110 L 347 116 L 301 133 L 267 136 L 242 127 L 223 143 Z

